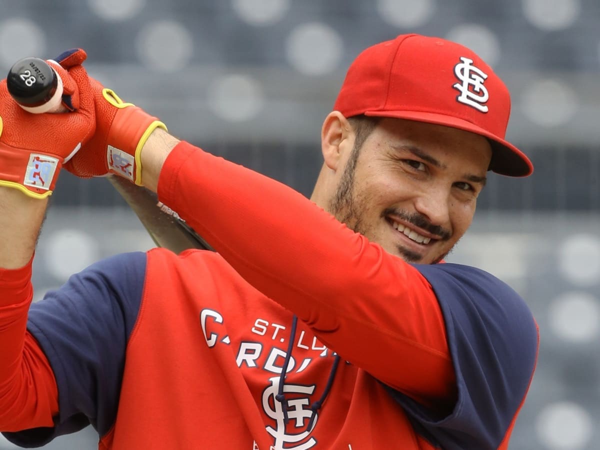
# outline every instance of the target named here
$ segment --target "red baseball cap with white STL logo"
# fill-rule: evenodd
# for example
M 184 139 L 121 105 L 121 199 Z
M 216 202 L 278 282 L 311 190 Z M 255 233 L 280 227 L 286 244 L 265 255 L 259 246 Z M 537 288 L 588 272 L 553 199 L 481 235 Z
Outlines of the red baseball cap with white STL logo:
M 505 84 L 472 50 L 442 38 L 406 34 L 368 47 L 350 65 L 334 109 L 481 134 L 492 148 L 489 170 L 533 172 L 529 158 L 504 139 L 511 112 Z

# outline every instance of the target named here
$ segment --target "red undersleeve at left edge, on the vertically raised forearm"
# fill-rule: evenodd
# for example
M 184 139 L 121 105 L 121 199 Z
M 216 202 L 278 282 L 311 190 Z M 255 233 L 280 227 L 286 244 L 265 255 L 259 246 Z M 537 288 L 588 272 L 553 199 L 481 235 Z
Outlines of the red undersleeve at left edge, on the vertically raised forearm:
M 0 269 L 0 431 L 52 427 L 58 389 L 50 364 L 26 331 L 31 263 Z

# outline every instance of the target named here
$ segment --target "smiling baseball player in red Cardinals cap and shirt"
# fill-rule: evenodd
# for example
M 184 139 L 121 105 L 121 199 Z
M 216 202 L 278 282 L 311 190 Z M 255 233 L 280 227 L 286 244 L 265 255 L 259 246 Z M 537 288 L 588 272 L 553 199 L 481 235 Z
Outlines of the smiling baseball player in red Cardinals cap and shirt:
M 508 448 L 535 320 L 493 275 L 443 262 L 488 172 L 532 172 L 484 61 L 421 35 L 364 50 L 323 122 L 310 201 L 170 135 L 84 59 L 52 63 L 71 113 L 23 112 L 0 85 L 9 440 L 91 424 L 115 450 Z M 110 257 L 31 305 L 62 167 L 156 191 L 217 253 Z

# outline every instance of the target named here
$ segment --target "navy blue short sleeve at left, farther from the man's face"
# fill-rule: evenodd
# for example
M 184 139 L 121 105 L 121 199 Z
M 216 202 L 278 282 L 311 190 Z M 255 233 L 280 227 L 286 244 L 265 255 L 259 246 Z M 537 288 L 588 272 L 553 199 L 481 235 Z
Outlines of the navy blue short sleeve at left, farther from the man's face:
M 59 415 L 53 428 L 4 433 L 8 440 L 32 447 L 88 424 L 100 436 L 110 430 L 145 272 L 145 253 L 113 256 L 71 276 L 31 305 L 27 328 L 54 371 Z

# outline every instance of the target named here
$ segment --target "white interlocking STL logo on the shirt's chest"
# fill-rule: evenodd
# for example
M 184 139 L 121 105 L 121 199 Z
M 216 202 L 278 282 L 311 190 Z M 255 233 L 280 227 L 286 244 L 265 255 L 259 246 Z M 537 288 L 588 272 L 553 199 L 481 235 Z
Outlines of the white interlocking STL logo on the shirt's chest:
M 279 391 L 279 377 L 273 377 L 270 380 L 271 385 L 263 391 L 262 406 L 266 415 L 275 421 L 275 427 L 271 427 L 271 425 L 266 427 L 266 431 L 274 439 L 274 444 L 271 446 L 272 450 L 307 450 L 313 448 L 317 441 L 314 437 L 309 436 L 319 419 L 318 415 L 315 417 L 313 427 L 310 430 L 307 430 L 307 425 L 313 414 L 312 410 L 309 409 L 309 396 L 313 394 L 316 386 L 287 383 L 283 386 L 284 394 L 289 395 L 289 399 L 286 400 L 287 417 L 289 418 L 286 429 L 281 403 L 275 399 L 275 395 Z M 298 433 L 290 433 L 290 427 L 298 430 Z

